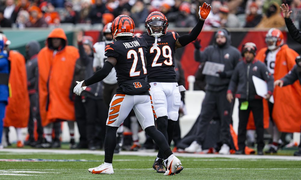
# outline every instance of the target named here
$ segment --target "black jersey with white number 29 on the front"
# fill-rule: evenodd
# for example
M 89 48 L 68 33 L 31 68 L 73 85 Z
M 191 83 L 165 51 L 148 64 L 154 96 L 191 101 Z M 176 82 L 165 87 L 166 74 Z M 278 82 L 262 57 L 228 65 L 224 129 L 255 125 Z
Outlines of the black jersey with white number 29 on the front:
M 176 32 L 167 32 L 157 39 L 147 33 L 143 34 L 148 46 L 146 55 L 148 82 L 177 82 L 175 77 L 175 41 L 179 35 Z

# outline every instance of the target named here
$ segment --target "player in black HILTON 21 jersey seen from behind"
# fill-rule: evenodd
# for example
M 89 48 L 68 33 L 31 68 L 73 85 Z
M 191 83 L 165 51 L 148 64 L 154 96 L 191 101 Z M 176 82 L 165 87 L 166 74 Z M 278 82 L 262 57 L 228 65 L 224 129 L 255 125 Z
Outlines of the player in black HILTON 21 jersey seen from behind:
M 164 135 L 155 128 L 151 99 L 148 93 L 150 86 L 145 81 L 147 42 L 142 37 L 133 38 L 134 29 L 135 24 L 129 16 L 117 16 L 111 26 L 111 33 L 115 42 L 105 47 L 107 61 L 92 77 L 77 82 L 78 84 L 73 90 L 77 95 L 80 95 L 88 85 L 101 81 L 115 67 L 118 88 L 110 103 L 107 119 L 104 164 L 89 168 L 88 171 L 93 174 L 114 173 L 112 161 L 116 147 L 116 131 L 130 111 L 134 109 L 141 127 L 163 150 L 164 156 L 168 157 L 170 163 L 164 175 L 173 175 L 182 171 L 183 167 L 181 161 L 173 155 Z

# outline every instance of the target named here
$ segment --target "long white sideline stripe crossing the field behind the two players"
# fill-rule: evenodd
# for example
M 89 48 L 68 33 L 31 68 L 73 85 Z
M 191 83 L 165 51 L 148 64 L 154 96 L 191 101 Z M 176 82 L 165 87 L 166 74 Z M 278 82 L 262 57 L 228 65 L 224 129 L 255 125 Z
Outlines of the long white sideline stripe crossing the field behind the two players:
M 104 155 L 104 151 L 90 151 L 90 150 L 66 150 L 66 149 L 0 149 L 0 152 L 15 152 L 15 153 L 55 153 L 55 154 L 92 154 Z M 273 159 L 273 160 L 289 160 L 301 161 L 298 156 L 278 156 L 278 155 L 219 155 L 219 154 L 190 154 L 190 153 L 174 153 L 179 157 L 191 158 L 233 158 L 233 159 Z M 157 156 L 157 152 L 138 151 L 129 152 L 121 151 L 119 155 L 136 155 L 136 156 Z

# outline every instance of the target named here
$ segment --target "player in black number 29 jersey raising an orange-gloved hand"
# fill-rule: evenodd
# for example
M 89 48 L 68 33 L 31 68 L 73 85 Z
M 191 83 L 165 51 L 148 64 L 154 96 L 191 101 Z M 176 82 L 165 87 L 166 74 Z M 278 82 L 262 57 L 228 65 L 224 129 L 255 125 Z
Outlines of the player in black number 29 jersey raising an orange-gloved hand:
M 175 121 L 178 120 L 178 111 L 181 105 L 181 95 L 175 77 L 175 49 L 186 46 L 196 40 L 200 34 L 204 21 L 210 13 L 211 6 L 204 3 L 199 7 L 200 19 L 190 34 L 179 37 L 176 32 L 167 32 L 168 21 L 166 16 L 158 11 L 147 16 L 145 28 L 147 33 L 142 35 L 147 41 L 147 80 L 151 85 L 151 101 L 154 116 L 157 118 L 157 128 L 161 131 L 170 145 L 172 141 Z M 185 90 L 181 88 L 180 91 Z M 164 165 L 168 163 L 160 149 L 153 168 L 158 173 L 165 173 Z

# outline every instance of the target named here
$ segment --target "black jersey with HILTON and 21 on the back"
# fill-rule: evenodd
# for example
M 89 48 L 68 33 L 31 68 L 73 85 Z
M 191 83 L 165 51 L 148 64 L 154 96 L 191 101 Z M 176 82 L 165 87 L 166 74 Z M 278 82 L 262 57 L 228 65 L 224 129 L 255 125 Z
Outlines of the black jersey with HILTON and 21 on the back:
M 146 78 L 147 70 L 144 61 L 146 53 L 147 43 L 143 37 L 107 44 L 105 56 L 117 59 L 115 70 L 119 87 L 126 81 Z

